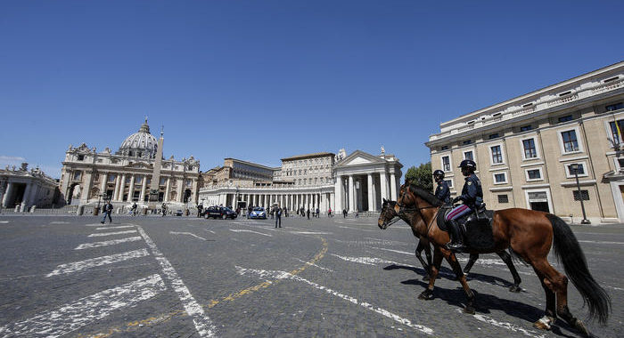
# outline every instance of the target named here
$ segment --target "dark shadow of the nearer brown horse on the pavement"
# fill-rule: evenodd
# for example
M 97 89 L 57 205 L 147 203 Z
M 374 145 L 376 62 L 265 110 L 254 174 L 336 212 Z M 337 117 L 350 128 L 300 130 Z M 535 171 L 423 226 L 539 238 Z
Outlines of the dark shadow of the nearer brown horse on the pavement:
M 425 283 L 418 279 L 404 280 L 401 282 L 401 284 L 423 286 L 423 290 L 424 288 L 429 286 L 428 283 Z M 542 316 L 544 316 L 544 310 L 538 309 L 530 304 L 515 302 L 513 300 L 505 298 L 499 298 L 493 294 L 480 294 L 474 289 L 472 289 L 472 293 L 475 297 L 475 302 L 473 304 L 474 309 L 480 313 L 489 314 L 491 313 L 491 310 L 500 310 L 505 312 L 505 314 L 507 314 L 508 316 L 525 320 L 531 325 L 533 324 L 533 322 L 538 320 L 538 318 L 542 318 Z M 433 290 L 433 294 L 436 299 L 447 302 L 448 305 L 453 305 L 462 309 L 464 308 L 466 296 L 464 294 L 464 289 L 461 286 L 450 289 L 436 286 Z M 567 323 L 560 319 L 557 319 L 555 325 L 552 326 L 551 332 L 566 338 L 578 337 L 578 335 L 563 333 L 561 328 L 565 328 L 571 333 L 576 333 L 576 331 L 571 328 L 571 326 L 569 326 Z

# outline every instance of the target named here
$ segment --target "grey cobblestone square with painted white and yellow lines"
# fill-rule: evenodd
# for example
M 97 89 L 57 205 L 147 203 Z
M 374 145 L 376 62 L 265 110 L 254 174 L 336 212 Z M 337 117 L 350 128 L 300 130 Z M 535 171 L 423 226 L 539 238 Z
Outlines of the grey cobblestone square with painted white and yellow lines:
M 435 299 L 405 223 L 376 219 L 203 220 L 187 217 L 0 215 L 0 336 L 67 337 L 576 337 L 538 331 L 544 293 L 517 262 L 523 291 L 496 255 L 469 275 L 477 314 L 446 263 Z M 622 225 L 572 227 L 612 297 L 599 337 L 624 336 Z M 467 255 L 460 255 L 464 265 Z M 561 269 L 557 262 L 555 268 Z M 579 318 L 587 307 L 569 286 Z

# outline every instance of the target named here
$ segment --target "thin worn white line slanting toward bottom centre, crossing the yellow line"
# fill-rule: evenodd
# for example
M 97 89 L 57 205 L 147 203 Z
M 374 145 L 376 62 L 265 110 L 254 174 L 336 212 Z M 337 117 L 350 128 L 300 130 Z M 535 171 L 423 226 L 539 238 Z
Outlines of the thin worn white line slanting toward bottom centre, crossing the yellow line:
M 316 284 L 315 282 L 309 281 L 308 279 L 305 278 L 300 278 L 299 276 L 295 276 L 295 275 L 291 275 L 290 273 L 286 272 L 286 271 L 275 271 L 275 270 L 255 270 L 255 269 L 244 269 L 241 268 L 239 266 L 236 266 L 236 270 L 238 272 L 239 275 L 246 275 L 246 274 L 253 274 L 253 275 L 257 275 L 259 278 L 274 278 L 274 279 L 291 279 L 291 280 L 295 280 L 298 282 L 302 282 L 305 284 L 308 284 L 308 286 L 312 286 L 314 288 L 316 288 L 317 290 L 321 290 L 324 291 L 327 294 L 332 294 L 336 297 L 339 297 L 345 301 L 348 302 L 352 302 L 356 305 L 359 305 L 363 308 L 365 308 L 366 310 L 371 310 L 374 311 L 376 313 L 379 313 L 380 315 L 393 319 L 395 321 L 397 321 L 398 323 L 401 323 L 405 326 L 409 326 L 412 328 L 415 328 L 416 330 L 424 333 L 424 334 L 433 334 L 433 330 L 430 327 L 427 326 L 422 326 L 419 324 L 414 324 L 412 323 L 409 319 L 406 318 L 401 318 L 398 315 L 388 311 L 388 310 L 383 310 L 382 308 L 377 308 L 374 307 L 374 305 L 369 304 L 367 302 L 360 302 L 358 301 L 356 298 L 353 298 L 347 294 L 341 294 L 337 291 L 334 291 L 332 289 L 330 289 L 329 287 L 326 286 L 321 286 Z

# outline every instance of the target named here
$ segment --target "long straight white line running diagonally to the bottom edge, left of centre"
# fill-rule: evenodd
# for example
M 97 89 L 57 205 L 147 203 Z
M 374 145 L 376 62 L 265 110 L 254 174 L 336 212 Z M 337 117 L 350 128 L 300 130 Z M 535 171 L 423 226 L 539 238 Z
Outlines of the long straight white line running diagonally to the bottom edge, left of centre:
M 201 337 L 214 336 L 217 333 L 217 327 L 214 326 L 210 318 L 204 314 L 201 305 L 195 301 L 193 294 L 191 294 L 185 286 L 182 279 L 177 276 L 177 272 L 173 269 L 173 265 L 171 265 L 163 254 L 160 254 L 160 250 L 158 250 L 158 247 L 156 247 L 152 238 L 147 236 L 147 233 L 145 233 L 141 226 L 136 225 L 136 229 L 139 230 L 139 233 L 144 238 L 145 243 L 147 243 L 147 245 L 150 246 L 150 249 L 152 249 L 152 254 L 156 257 L 156 261 L 160 263 L 162 272 L 165 274 L 165 277 L 167 277 L 169 284 L 171 284 L 172 288 L 176 292 L 180 302 L 184 305 L 186 314 L 193 318 L 193 324 L 195 325 L 197 333 L 200 334 Z

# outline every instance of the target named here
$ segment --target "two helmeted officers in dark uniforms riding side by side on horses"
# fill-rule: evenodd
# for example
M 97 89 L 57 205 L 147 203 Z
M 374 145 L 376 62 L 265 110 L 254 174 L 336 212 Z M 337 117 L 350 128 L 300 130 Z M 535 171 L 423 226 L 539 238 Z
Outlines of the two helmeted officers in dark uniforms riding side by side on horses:
M 483 204 L 483 189 L 481 189 L 481 181 L 479 177 L 474 173 L 477 169 L 477 164 L 472 159 L 464 159 L 459 165 L 464 175 L 464 188 L 462 194 L 451 200 L 451 192 L 448 189 L 447 181 L 444 181 L 444 172 L 436 170 L 433 172 L 433 179 L 438 186 L 434 192 L 434 195 L 445 204 L 455 205 L 457 202 L 462 201 L 461 205 L 453 207 L 447 216 L 445 221 L 448 224 L 448 234 L 450 235 L 450 242 L 447 243 L 447 249 L 452 251 L 463 251 L 465 249 L 464 239 L 459 229 L 459 220 L 467 213 L 472 213 Z

